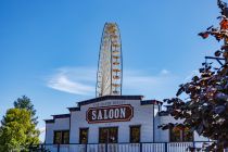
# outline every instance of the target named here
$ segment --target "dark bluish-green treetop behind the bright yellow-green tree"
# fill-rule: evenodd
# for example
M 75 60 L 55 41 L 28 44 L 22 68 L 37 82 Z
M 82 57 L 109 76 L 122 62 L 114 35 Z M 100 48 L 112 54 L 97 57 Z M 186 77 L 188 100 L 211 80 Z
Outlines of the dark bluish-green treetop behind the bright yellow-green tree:
M 35 125 L 38 124 L 38 117 L 36 116 L 36 110 L 34 109 L 34 104 L 31 103 L 30 99 L 26 96 L 23 96 L 22 98 L 18 98 L 16 101 L 14 101 L 14 107 L 15 109 L 25 109 L 31 113 L 31 119 Z

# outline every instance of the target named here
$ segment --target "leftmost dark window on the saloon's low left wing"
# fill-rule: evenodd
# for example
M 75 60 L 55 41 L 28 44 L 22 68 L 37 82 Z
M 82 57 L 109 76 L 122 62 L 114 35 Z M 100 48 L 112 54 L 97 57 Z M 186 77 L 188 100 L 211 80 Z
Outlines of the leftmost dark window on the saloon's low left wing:
M 54 144 L 68 144 L 68 143 L 69 143 L 68 130 L 54 131 Z

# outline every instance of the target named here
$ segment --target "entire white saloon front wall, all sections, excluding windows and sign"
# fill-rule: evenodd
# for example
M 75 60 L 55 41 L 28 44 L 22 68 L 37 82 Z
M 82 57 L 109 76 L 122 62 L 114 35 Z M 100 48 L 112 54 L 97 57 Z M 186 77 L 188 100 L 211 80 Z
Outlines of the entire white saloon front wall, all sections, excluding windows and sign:
M 130 122 L 114 122 L 114 123 L 99 123 L 88 124 L 86 121 L 86 112 L 89 107 L 109 106 L 130 104 L 134 107 L 134 117 Z M 155 125 L 154 125 L 154 141 L 155 142 L 169 142 L 169 130 L 162 130 L 157 128 L 159 125 L 167 123 L 176 123 L 181 121 L 174 119 L 170 115 L 159 116 L 159 106 L 155 105 Z M 153 142 L 153 104 L 141 105 L 140 100 L 105 100 L 97 103 L 81 105 L 80 111 L 71 113 L 71 134 L 69 143 L 79 143 L 79 128 L 89 128 L 89 143 L 99 142 L 99 128 L 100 127 L 118 127 L 118 142 L 129 142 L 129 126 L 141 126 L 141 142 Z M 55 118 L 55 123 L 47 124 L 47 138 L 46 143 L 53 143 L 54 130 L 69 129 L 69 118 Z M 195 141 L 207 141 L 207 139 L 198 136 L 194 132 Z

